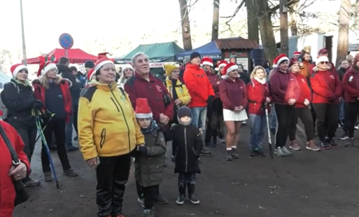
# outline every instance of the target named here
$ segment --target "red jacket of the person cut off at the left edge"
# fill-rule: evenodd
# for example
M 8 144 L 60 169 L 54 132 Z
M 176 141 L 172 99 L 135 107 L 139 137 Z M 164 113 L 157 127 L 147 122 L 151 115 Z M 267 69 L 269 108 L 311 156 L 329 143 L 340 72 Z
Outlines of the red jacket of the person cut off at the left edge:
M 3 127 L 10 143 L 13 145 L 19 160 L 27 166 L 27 172 L 29 172 L 30 163 L 29 160 L 27 160 L 26 154 L 22 151 L 24 149 L 24 142 L 20 135 L 11 125 L 2 120 L 0 121 L 0 125 Z M 8 176 L 10 167 L 13 166 L 13 159 L 2 137 L 0 138 L 0 150 L 0 217 L 13 217 L 16 193 L 13 179 Z

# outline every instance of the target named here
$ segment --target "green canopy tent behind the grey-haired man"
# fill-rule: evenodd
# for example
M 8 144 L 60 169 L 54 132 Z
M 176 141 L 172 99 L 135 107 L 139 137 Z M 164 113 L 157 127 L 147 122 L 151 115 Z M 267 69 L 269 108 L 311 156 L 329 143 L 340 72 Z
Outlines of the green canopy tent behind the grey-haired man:
M 185 52 L 174 41 L 166 43 L 151 43 L 148 45 L 139 45 L 131 52 L 122 57 L 115 58 L 115 64 L 125 64 L 131 62 L 131 58 L 137 52 L 144 52 L 150 58 L 150 62 L 176 62 L 176 54 Z

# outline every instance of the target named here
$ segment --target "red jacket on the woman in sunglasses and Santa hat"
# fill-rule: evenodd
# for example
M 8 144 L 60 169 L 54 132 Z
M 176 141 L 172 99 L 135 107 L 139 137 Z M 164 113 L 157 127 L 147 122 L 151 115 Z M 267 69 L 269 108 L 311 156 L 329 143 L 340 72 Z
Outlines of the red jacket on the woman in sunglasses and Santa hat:
M 314 71 L 311 75 L 311 90 L 313 103 L 338 104 L 339 97 L 342 97 L 338 73 L 328 70 Z

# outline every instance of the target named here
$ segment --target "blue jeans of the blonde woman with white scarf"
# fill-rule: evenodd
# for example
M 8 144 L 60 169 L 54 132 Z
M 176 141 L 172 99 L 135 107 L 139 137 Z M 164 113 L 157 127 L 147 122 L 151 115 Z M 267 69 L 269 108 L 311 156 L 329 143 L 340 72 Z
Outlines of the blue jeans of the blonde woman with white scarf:
M 249 114 L 251 120 L 251 138 L 249 139 L 249 147 L 253 150 L 255 148 L 262 148 L 263 140 L 265 139 L 265 130 L 267 130 L 267 120 L 265 115 L 258 116 Z

